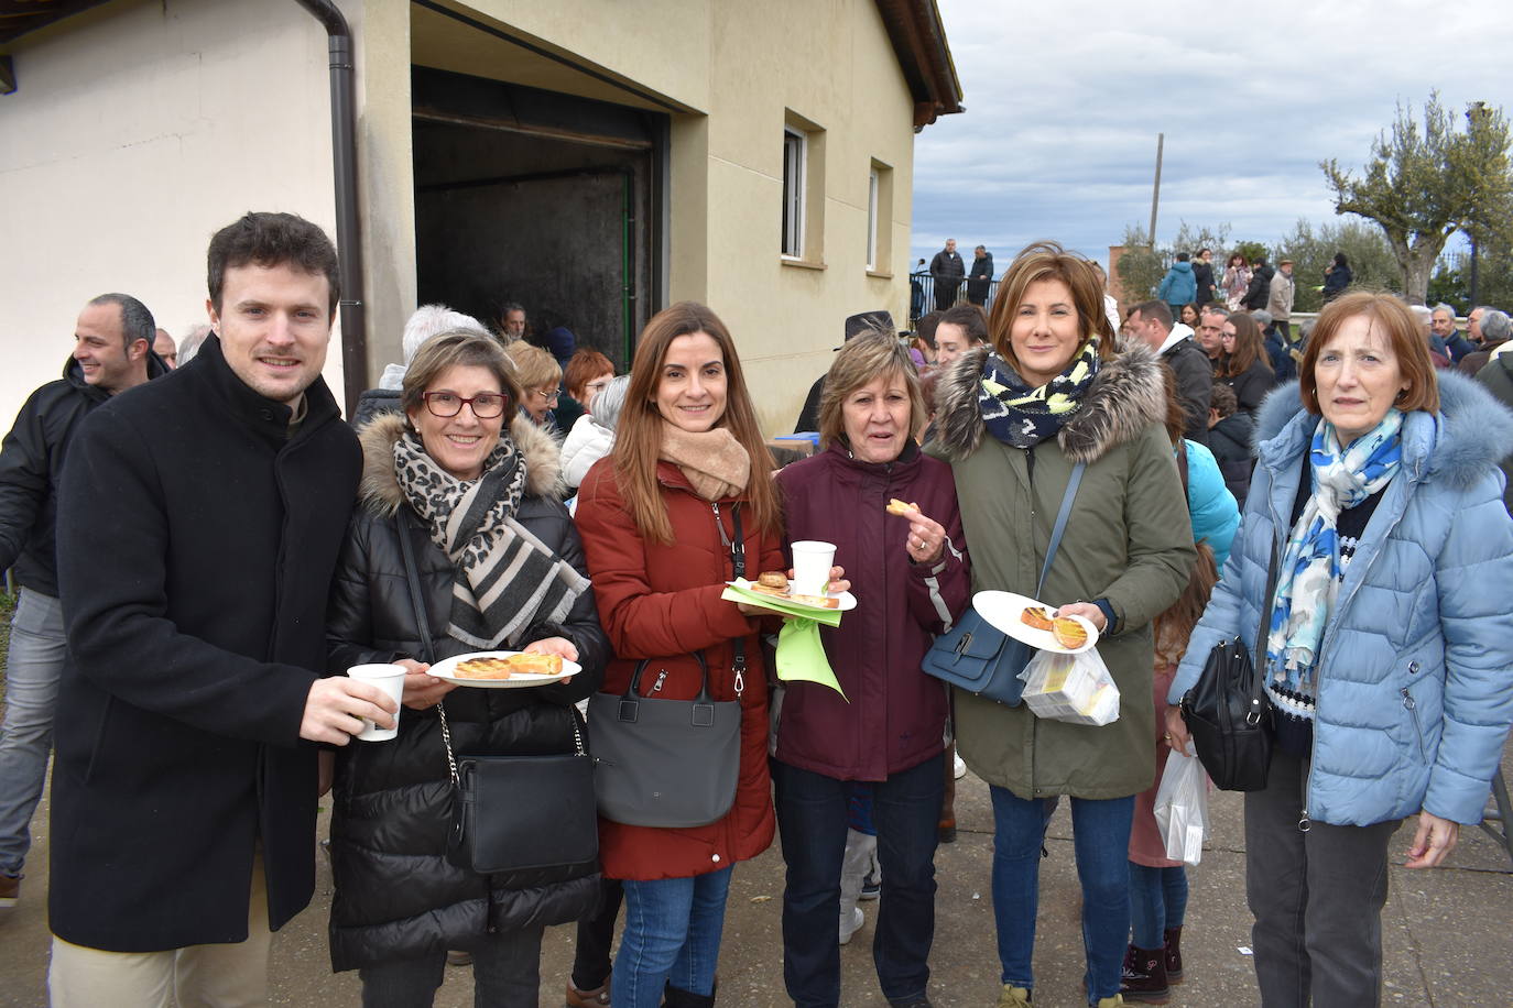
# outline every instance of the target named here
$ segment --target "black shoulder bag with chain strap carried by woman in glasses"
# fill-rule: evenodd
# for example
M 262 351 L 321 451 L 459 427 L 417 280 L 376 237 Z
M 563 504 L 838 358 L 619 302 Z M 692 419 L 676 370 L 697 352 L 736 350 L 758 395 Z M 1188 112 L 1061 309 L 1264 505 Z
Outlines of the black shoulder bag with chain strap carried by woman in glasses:
M 436 662 L 404 512 L 395 515 L 410 604 L 425 660 Z M 578 712 L 575 751 L 561 756 L 455 756 L 446 706 L 436 704 L 452 778 L 452 828 L 446 860 L 480 875 L 545 870 L 566 881 L 599 870 L 599 821 L 593 802 L 593 760 L 583 744 Z

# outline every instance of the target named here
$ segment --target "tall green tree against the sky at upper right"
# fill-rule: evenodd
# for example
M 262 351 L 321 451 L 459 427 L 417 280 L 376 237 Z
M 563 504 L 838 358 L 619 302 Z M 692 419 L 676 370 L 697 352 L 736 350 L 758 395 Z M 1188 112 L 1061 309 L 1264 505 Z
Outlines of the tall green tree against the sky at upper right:
M 1371 145 L 1362 177 L 1341 171 L 1333 159 L 1319 168 L 1334 190 L 1334 212 L 1375 221 L 1403 274 L 1404 296 L 1424 304 L 1434 260 L 1446 239 L 1469 230 L 1478 239 L 1510 227 L 1513 175 L 1508 171 L 1508 122 L 1501 109 L 1477 103 L 1466 130 L 1430 94 L 1424 131 L 1398 104 L 1390 131 Z

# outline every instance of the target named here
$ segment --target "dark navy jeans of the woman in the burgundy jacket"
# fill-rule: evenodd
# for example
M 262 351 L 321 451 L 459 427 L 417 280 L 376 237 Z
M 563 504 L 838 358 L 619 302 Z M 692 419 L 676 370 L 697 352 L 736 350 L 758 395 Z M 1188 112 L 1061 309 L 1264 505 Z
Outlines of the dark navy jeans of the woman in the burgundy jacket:
M 934 756 L 873 781 L 871 819 L 882 902 L 871 960 L 885 997 L 923 994 L 935 937 L 935 845 L 946 771 Z M 772 762 L 782 857 L 782 978 L 797 1008 L 834 1008 L 841 994 L 841 858 L 853 784 Z

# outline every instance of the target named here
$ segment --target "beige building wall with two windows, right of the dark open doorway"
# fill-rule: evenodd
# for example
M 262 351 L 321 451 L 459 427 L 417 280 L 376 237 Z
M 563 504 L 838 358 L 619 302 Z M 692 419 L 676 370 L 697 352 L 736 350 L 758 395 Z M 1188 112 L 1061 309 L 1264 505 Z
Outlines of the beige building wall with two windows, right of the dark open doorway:
M 707 302 L 735 334 L 766 432 L 791 429 L 846 316 L 888 308 L 906 325 L 914 100 L 871 0 L 478 0 L 469 9 L 688 109 L 672 116 L 667 295 Z M 461 70 L 455 51 L 431 57 Z M 486 66 L 471 73 L 629 103 L 549 66 Z M 823 147 L 816 157 L 811 144 L 816 201 L 802 263 L 781 255 L 790 121 L 819 127 Z M 879 243 L 893 255 L 868 272 L 873 162 L 891 174 Z

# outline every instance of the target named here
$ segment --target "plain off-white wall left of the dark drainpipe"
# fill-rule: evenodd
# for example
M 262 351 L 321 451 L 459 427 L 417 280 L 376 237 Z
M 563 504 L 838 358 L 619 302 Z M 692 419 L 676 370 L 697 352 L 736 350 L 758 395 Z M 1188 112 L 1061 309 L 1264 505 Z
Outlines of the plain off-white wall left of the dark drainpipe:
M 325 32 L 295 3 L 113 3 L 23 36 L 0 97 L 0 414 L 57 378 L 94 295 L 174 337 L 206 320 L 210 234 L 289 210 L 334 234 Z M 413 286 L 413 275 L 412 275 Z M 340 346 L 325 369 L 340 388 Z

